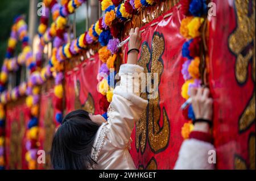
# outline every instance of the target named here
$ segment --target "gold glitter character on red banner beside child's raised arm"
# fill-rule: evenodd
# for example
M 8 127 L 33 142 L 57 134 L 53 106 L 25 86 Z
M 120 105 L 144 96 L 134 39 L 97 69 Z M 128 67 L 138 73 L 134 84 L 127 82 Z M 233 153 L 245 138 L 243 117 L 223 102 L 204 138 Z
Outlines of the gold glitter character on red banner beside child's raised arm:
M 147 43 L 143 43 L 141 58 L 138 61 L 138 65 L 144 68 L 144 73 L 151 72 L 151 77 L 146 77 L 147 82 L 154 81 L 154 73 L 158 74 L 158 85 L 160 83 L 160 75 L 163 71 L 163 63 L 161 62 L 161 55 L 164 52 L 164 39 L 158 33 L 154 33 L 152 39 L 152 50 L 150 50 Z M 151 64 L 149 64 L 151 63 Z M 149 68 L 147 68 L 150 65 Z M 149 86 L 149 85 L 147 85 Z M 147 87 L 148 88 L 148 87 Z M 154 85 L 151 84 L 151 89 L 154 89 Z M 148 143 L 150 148 L 155 153 L 163 151 L 169 141 L 170 137 L 170 125 L 167 117 L 167 113 L 163 107 L 163 125 L 160 128 L 159 120 L 161 117 L 161 110 L 159 106 L 159 96 L 150 98 L 156 92 L 146 92 L 142 93 L 141 97 L 143 99 L 148 99 L 147 109 L 143 112 L 141 119 L 136 124 L 136 148 L 137 151 L 141 149 L 144 153 L 146 142 L 148 138 Z M 159 95 L 159 90 L 158 90 Z

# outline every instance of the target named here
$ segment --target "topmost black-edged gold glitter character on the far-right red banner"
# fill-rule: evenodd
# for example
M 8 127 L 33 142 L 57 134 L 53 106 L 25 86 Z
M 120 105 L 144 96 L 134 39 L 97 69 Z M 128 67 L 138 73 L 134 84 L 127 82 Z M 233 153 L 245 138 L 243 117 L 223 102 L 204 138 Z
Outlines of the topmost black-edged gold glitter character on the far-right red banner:
M 236 79 L 239 83 L 247 81 L 248 65 L 252 61 L 251 76 L 255 83 L 255 1 L 253 1 L 253 13 L 249 15 L 249 0 L 236 0 L 237 29 L 229 37 L 229 48 L 237 56 Z M 242 54 L 249 44 L 253 47 Z M 245 108 L 239 120 L 240 132 L 245 131 L 255 121 L 255 91 L 250 98 L 250 102 Z

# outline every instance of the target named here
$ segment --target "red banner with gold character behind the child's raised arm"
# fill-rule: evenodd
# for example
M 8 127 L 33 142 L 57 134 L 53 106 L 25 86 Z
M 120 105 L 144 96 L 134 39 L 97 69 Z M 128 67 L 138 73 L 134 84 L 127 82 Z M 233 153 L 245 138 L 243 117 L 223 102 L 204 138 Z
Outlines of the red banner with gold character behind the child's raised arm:
M 173 169 L 183 141 L 181 127 L 185 119 L 180 106 L 184 99 L 180 91 L 184 83 L 181 49 L 185 39 L 179 32 L 183 15 L 177 6 L 165 15 L 142 27 L 145 31 L 138 64 L 145 73 L 158 74 L 159 96 L 148 99 L 147 110 L 131 137 L 130 153 L 138 169 Z M 123 54 L 126 52 L 127 44 Z M 141 96 L 147 99 L 148 95 Z

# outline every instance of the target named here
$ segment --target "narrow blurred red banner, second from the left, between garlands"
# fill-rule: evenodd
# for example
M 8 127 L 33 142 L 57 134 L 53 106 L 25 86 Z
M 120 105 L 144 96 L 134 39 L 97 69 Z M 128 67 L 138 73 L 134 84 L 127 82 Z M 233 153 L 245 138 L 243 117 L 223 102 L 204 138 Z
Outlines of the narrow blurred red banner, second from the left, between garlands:
M 38 169 L 52 169 L 51 167 L 51 143 L 56 129 L 53 109 L 53 90 L 42 94 L 40 99 L 39 115 L 39 149 L 46 153 L 46 163 L 38 164 Z M 47 108 L 47 109 L 46 109 Z

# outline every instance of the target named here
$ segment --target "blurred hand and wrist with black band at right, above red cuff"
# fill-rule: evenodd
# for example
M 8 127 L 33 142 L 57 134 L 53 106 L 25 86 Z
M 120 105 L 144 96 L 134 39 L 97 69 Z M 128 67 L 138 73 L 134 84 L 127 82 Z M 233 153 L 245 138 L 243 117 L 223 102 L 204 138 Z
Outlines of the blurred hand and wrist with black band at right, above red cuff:
M 209 97 L 208 88 L 199 88 L 191 90 L 192 107 L 196 119 L 212 120 L 213 100 Z M 196 123 L 194 131 L 209 131 L 208 123 Z

